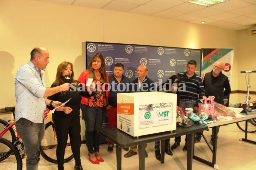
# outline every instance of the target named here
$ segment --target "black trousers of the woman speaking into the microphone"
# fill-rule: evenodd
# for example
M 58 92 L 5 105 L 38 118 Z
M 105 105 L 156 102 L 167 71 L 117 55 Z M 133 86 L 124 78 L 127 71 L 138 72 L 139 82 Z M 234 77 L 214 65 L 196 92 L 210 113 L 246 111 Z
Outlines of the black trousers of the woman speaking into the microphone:
M 58 118 L 53 113 L 54 129 L 57 136 L 57 149 L 56 157 L 58 163 L 58 169 L 64 169 L 64 154 L 67 145 L 68 135 L 71 144 L 71 150 L 74 155 L 75 165 L 81 165 L 80 159 L 80 147 L 81 147 L 81 125 L 80 117 L 74 116 L 69 118 Z

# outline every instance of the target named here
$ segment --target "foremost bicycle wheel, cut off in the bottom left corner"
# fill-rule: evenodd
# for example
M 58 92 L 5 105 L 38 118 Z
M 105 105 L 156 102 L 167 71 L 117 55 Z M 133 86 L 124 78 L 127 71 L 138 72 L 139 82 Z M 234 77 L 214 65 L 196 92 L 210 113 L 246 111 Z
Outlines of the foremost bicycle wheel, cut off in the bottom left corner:
M 17 148 L 8 140 L 0 137 L 0 169 L 22 170 L 22 159 Z

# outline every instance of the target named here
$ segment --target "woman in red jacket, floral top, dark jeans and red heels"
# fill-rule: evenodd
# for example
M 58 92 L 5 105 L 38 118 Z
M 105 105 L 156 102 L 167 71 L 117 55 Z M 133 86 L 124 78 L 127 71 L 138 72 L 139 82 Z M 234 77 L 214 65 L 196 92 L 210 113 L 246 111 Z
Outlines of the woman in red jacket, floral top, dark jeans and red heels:
M 81 73 L 78 81 L 86 84 L 88 78 L 93 79 L 90 85 L 92 95 L 89 98 L 82 97 L 81 109 L 85 118 L 85 139 L 89 151 L 88 156 L 91 163 L 99 164 L 104 160 L 99 152 L 100 135 L 97 133 L 97 129 L 101 128 L 102 114 L 106 112 L 108 97 L 108 87 L 104 84 L 108 83 L 108 74 L 102 54 L 96 53 L 91 57 L 88 69 Z

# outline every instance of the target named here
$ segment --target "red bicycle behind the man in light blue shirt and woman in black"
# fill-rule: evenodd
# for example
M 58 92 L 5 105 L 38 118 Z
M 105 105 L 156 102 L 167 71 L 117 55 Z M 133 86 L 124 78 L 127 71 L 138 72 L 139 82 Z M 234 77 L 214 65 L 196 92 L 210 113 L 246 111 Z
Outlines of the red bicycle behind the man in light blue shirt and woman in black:
M 5 107 L 4 108 L 6 112 L 12 112 L 13 116 L 15 118 L 15 107 Z M 45 114 L 49 113 L 49 109 L 46 109 Z M 45 121 L 47 120 L 48 116 L 44 116 Z M 8 122 L 0 119 L 0 128 L 3 128 L 3 130 L 0 132 L 0 137 L 6 138 L 8 141 L 11 141 L 13 145 L 18 149 L 18 151 L 21 152 L 21 157 L 25 157 L 25 147 L 23 145 L 23 142 L 21 141 L 21 138 L 19 136 L 19 133 L 14 128 L 15 121 L 11 123 L 11 120 Z M 1 130 L 1 129 L 0 129 Z M 17 133 L 17 137 L 15 134 L 15 131 Z M 40 152 L 42 157 L 44 157 L 47 161 L 57 164 L 57 158 L 56 158 L 56 148 L 57 148 L 57 140 L 55 140 L 54 137 L 54 126 L 53 123 L 50 121 L 45 126 L 45 136 L 44 139 L 42 139 L 41 146 L 40 146 Z M 56 137 L 57 138 L 57 137 Z M 71 151 L 71 145 L 70 140 L 68 136 L 68 142 L 65 150 L 64 155 L 64 163 L 72 160 L 73 153 Z

